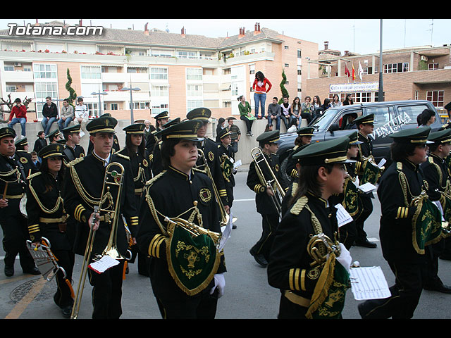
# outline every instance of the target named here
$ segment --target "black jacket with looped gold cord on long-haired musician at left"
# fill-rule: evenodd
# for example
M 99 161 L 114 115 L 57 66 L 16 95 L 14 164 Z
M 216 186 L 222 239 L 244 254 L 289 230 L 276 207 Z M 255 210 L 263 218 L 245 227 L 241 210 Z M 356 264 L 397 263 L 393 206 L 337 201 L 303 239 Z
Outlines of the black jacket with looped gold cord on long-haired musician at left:
M 47 176 L 47 180 L 45 180 Z M 62 177 L 54 177 L 50 173 L 30 175 L 27 187 L 27 223 L 32 242 L 41 237 L 49 239 L 51 249 L 70 250 L 72 246 L 66 232 L 61 232 L 58 223 L 66 223 L 66 216 L 61 190 Z M 53 210 L 55 209 L 56 210 Z

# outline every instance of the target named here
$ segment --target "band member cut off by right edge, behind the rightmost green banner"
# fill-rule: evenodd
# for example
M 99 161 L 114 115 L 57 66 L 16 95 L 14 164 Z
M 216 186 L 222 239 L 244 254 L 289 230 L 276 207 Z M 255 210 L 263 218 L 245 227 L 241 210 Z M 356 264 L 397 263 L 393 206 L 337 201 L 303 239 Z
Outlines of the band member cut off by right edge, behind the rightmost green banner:
M 429 199 L 431 201 L 440 201 L 442 194 L 450 196 L 451 192 L 450 170 L 445 163 L 445 158 L 450 155 L 451 150 L 451 129 L 431 132 L 428 141 L 433 142 L 428 144 L 428 161 L 421 163 L 420 168 L 423 170 L 424 179 L 428 182 L 427 193 Z M 444 249 L 445 239 L 426 246 L 428 275 L 424 289 L 450 294 L 451 287 L 443 284 L 440 277 L 438 277 L 438 257 Z

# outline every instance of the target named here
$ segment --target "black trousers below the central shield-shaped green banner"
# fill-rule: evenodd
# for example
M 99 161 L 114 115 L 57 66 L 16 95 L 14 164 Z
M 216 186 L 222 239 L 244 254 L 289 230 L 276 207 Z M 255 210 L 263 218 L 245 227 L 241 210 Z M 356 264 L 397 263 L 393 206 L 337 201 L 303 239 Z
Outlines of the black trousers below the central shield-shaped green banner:
M 218 289 L 178 300 L 156 297 L 163 319 L 214 319 L 218 305 Z

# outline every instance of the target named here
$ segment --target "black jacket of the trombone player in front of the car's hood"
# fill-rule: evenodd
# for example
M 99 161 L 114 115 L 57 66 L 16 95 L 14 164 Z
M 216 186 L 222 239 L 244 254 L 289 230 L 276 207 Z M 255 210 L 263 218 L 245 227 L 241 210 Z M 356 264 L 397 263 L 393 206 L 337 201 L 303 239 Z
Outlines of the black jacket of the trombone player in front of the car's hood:
M 282 187 L 284 190 L 285 186 L 283 185 L 284 182 L 281 180 L 280 175 L 280 167 L 279 167 L 279 160 L 278 156 L 275 154 L 271 154 L 269 156 L 268 154 L 263 153 L 266 161 L 271 166 L 271 170 L 276 176 L 278 182 L 282 184 Z M 261 160 L 260 155 L 257 156 L 257 161 L 259 161 L 259 167 L 261 168 L 264 178 L 266 182 L 269 180 L 273 180 L 273 176 L 269 172 L 268 166 L 266 163 Z M 274 206 L 273 201 L 271 200 L 271 197 L 266 194 L 266 183 L 261 182 L 259 179 L 259 176 L 257 175 L 257 171 L 255 168 L 255 161 L 252 161 L 249 165 L 249 172 L 247 173 L 247 187 L 249 189 L 253 190 L 255 195 L 255 204 L 257 205 L 257 212 L 260 214 L 277 214 L 278 211 L 276 209 L 276 206 Z M 281 201 L 280 201 L 281 202 Z

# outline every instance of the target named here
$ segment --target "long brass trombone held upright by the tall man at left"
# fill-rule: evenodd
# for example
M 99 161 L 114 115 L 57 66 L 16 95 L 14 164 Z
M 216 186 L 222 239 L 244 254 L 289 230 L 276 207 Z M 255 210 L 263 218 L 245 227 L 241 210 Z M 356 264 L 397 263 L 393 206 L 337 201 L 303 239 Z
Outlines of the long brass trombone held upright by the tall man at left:
M 114 168 L 114 170 L 112 168 Z M 116 246 L 119 220 L 117 216 L 119 215 L 119 207 L 121 205 L 121 192 L 123 187 L 124 171 L 125 169 L 123 165 L 118 162 L 109 163 L 109 165 L 107 165 L 105 169 L 104 186 L 102 187 L 99 205 L 94 206 L 94 215 L 97 213 L 103 213 L 102 217 L 104 218 L 105 222 L 112 223 L 112 225 L 108 244 L 106 245 L 106 248 L 101 253 L 101 255 L 97 255 L 94 258 L 95 261 L 98 261 L 102 256 L 110 256 L 111 258 L 117 260 L 125 259 L 125 257 L 123 257 L 121 253 L 119 253 Z M 116 195 L 116 201 L 114 201 L 113 199 L 113 194 Z M 80 273 L 80 280 L 78 282 L 77 293 L 75 295 L 75 301 L 73 303 L 70 319 L 77 319 L 78 311 L 80 310 L 83 289 L 85 288 L 87 268 L 89 262 L 91 261 L 92 246 L 94 245 L 95 230 L 93 228 L 96 220 L 97 218 L 94 216 L 92 218 L 92 223 L 89 230 L 85 256 L 83 257 L 83 263 Z

